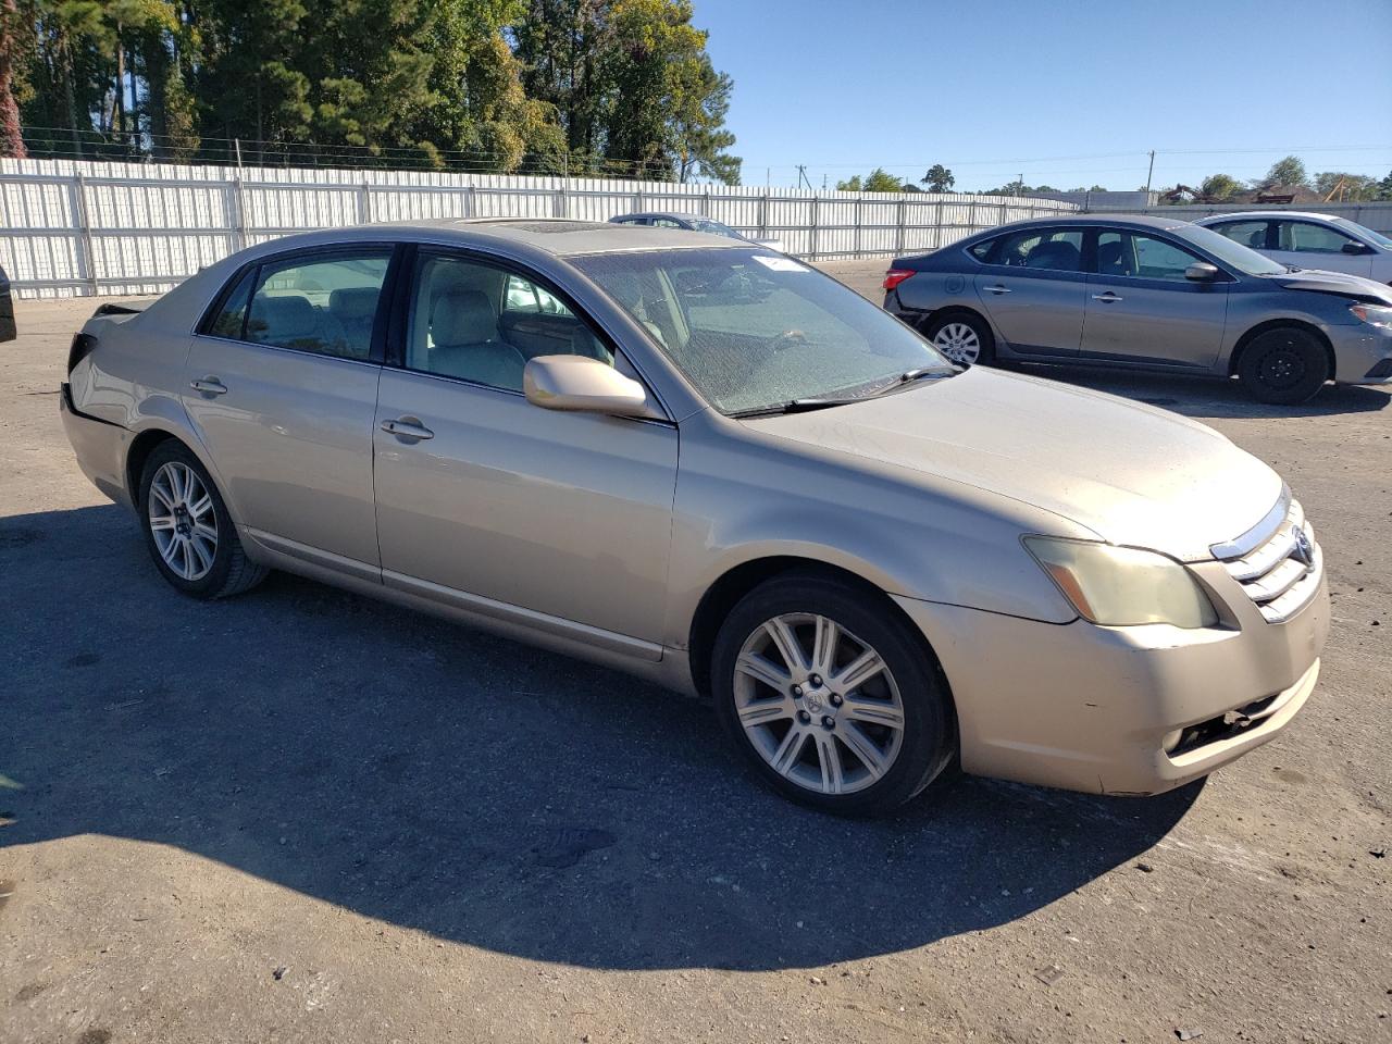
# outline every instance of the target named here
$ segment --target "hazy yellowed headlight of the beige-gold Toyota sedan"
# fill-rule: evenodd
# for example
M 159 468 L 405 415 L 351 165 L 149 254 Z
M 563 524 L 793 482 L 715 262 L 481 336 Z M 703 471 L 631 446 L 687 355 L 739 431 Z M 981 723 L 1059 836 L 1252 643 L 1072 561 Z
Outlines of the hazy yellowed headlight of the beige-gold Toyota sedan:
M 1218 622 L 1212 603 L 1179 562 L 1154 551 L 1027 536 L 1025 546 L 1079 615 L 1105 626 Z

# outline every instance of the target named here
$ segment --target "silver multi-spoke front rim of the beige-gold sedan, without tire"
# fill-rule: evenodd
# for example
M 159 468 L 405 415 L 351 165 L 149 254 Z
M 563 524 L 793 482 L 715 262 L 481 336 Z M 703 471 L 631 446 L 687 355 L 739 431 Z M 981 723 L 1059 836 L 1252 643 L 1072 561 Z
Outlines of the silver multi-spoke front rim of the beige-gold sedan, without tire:
M 774 617 L 745 640 L 735 714 L 759 756 L 814 793 L 874 785 L 903 745 L 903 700 L 884 657 L 812 612 Z

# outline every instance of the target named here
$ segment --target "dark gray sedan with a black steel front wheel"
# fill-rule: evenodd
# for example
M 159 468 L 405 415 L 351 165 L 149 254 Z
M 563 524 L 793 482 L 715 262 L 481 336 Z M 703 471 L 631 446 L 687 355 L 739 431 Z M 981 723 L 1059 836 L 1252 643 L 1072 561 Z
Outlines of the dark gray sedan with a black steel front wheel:
M 1178 219 L 1050 217 L 899 258 L 884 306 L 962 365 L 1070 362 L 1240 379 L 1296 404 L 1392 381 L 1392 290 L 1296 271 Z

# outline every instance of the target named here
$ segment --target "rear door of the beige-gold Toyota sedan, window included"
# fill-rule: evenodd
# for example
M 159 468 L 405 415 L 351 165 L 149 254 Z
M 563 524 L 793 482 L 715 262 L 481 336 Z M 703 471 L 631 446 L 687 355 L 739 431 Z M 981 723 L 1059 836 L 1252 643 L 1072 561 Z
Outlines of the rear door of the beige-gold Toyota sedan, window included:
M 253 537 L 373 578 L 373 333 L 390 260 L 390 246 L 359 246 L 251 266 L 193 337 L 182 393 Z

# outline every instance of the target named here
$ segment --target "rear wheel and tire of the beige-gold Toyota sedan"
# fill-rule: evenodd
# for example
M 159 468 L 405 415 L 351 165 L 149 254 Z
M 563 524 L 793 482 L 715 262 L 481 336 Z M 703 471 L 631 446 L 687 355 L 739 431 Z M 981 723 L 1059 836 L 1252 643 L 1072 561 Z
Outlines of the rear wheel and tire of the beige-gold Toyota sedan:
M 226 599 L 255 587 L 266 568 L 252 562 L 202 462 L 177 440 L 160 443 L 141 473 L 141 528 L 155 567 L 195 599 Z

